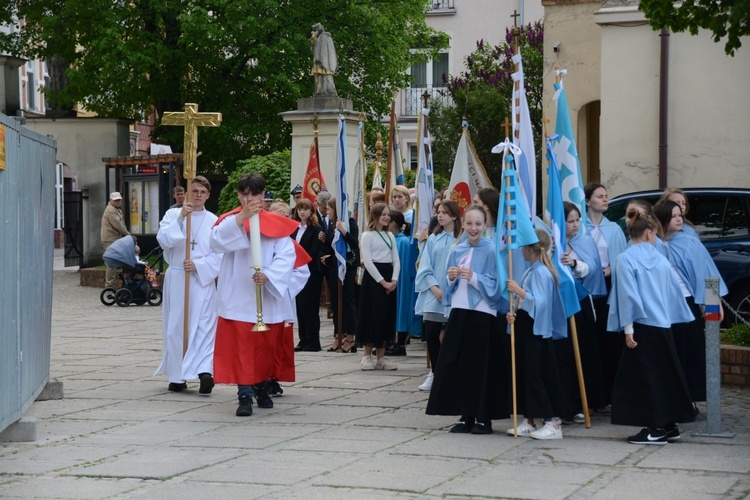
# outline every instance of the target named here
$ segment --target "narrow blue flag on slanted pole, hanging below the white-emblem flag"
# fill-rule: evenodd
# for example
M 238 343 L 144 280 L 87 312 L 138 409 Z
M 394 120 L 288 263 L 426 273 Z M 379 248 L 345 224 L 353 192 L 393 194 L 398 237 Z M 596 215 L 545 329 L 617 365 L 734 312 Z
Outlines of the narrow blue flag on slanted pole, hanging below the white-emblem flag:
M 557 158 L 552 148 L 552 137 L 547 138 L 547 159 L 549 160 L 549 186 L 547 190 L 547 207 L 545 215 L 552 229 L 554 252 L 552 264 L 557 269 L 560 282 L 560 297 L 562 298 L 565 317 L 569 318 L 581 310 L 580 301 L 588 292 L 570 272 L 570 266 L 560 262 L 568 251 L 565 233 L 565 209 L 563 208 L 562 183 L 557 170 Z

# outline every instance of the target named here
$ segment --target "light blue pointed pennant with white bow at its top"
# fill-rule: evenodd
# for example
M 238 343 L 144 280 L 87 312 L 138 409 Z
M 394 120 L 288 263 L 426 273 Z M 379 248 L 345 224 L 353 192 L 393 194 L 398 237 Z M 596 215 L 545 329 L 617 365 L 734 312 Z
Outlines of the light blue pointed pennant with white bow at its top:
M 496 146 L 497 148 L 497 146 Z M 495 149 L 493 149 L 493 152 Z M 504 151 L 508 151 L 506 147 Z M 533 245 L 539 241 L 531 223 L 531 217 L 522 194 L 521 182 L 516 171 L 513 155 L 505 156 L 505 168 L 500 185 L 500 205 L 497 210 L 497 237 L 495 250 L 497 254 L 497 271 L 503 298 L 510 300 L 507 287 L 508 250 L 515 250 L 526 245 Z

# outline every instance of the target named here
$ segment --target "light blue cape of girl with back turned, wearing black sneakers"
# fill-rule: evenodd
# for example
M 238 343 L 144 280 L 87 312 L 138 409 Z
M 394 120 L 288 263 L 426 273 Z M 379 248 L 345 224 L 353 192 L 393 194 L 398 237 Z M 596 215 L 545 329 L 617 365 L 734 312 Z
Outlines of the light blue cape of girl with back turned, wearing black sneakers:
M 609 302 L 611 332 L 631 323 L 670 328 L 694 319 L 671 265 L 647 242 L 631 246 L 617 259 Z

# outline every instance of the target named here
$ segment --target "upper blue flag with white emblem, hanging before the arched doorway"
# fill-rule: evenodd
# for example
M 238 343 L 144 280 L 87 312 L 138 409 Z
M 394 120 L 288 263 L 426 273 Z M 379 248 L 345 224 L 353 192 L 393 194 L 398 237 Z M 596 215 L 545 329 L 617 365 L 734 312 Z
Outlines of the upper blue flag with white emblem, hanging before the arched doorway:
M 566 70 L 558 70 L 558 75 L 567 73 Z M 570 112 L 568 111 L 568 98 L 565 97 L 565 87 L 562 80 L 555 83 L 555 96 L 553 100 L 557 103 L 557 119 L 555 121 L 555 135 L 557 140 L 554 144 L 554 152 L 557 157 L 561 190 L 563 201 L 569 201 L 578 207 L 581 212 L 581 226 L 579 231 L 586 232 L 586 196 L 583 192 L 583 177 L 581 176 L 581 163 L 578 160 L 576 140 L 573 136 L 573 127 L 570 123 Z

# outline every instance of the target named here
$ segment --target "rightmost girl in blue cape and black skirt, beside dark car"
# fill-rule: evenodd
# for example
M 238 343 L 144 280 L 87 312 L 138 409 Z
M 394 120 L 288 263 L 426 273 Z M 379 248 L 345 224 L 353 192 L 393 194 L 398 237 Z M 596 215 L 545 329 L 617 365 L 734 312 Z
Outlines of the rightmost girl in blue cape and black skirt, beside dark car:
M 669 199 L 654 205 L 654 216 L 661 224 L 668 258 L 679 277 L 684 300 L 695 319 L 672 325 L 677 354 L 682 363 L 693 402 L 706 400 L 706 278 L 720 276 L 711 255 L 700 240 L 685 233 L 682 209 Z M 727 287 L 719 277 L 719 294 L 726 295 Z M 721 306 L 721 304 L 719 304 Z M 720 307 L 723 318 L 724 311 Z M 697 407 L 696 407 L 697 411 Z

